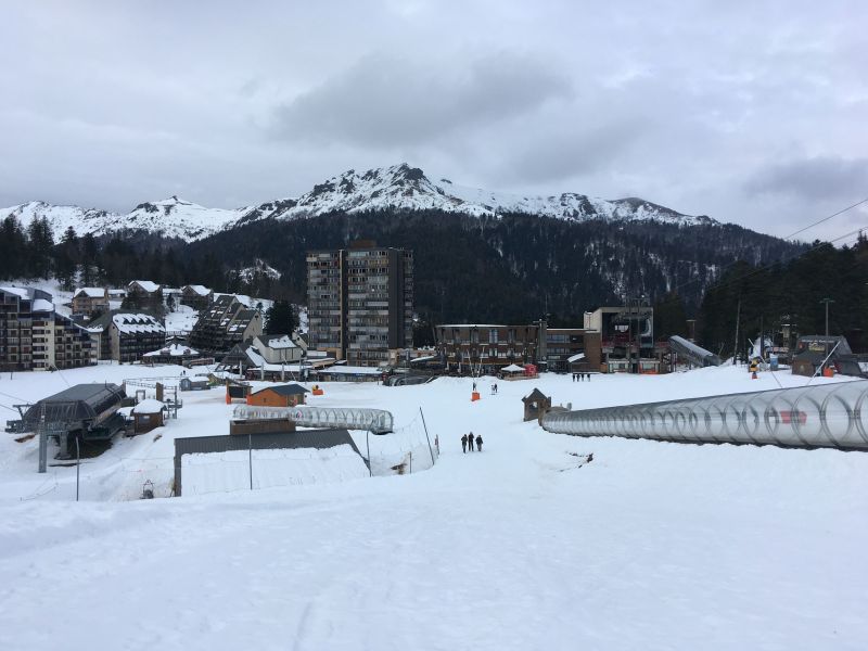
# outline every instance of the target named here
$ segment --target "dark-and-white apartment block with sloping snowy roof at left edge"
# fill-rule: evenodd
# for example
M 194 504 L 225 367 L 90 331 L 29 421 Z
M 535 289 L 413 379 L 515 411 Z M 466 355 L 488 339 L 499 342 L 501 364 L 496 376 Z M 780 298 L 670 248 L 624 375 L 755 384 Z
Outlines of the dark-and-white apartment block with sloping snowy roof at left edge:
M 72 369 L 95 362 L 90 333 L 58 314 L 51 294 L 0 288 L 0 369 Z

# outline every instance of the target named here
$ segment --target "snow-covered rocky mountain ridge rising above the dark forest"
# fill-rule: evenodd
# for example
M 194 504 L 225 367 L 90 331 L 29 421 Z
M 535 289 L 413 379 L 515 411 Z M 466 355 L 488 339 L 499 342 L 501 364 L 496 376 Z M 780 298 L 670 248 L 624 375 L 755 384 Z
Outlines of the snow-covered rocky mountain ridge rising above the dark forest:
M 294 219 L 335 212 L 355 214 L 375 210 L 443 210 L 478 217 L 524 213 L 570 221 L 602 218 L 682 226 L 716 224 L 709 217 L 684 215 L 635 197 L 608 201 L 573 192 L 548 196 L 522 195 L 467 188 L 448 179 L 433 182 L 421 169 L 406 163 L 360 174 L 350 169 L 314 186 L 297 199 L 276 200 L 237 209 L 206 208 L 171 196 L 139 204 L 126 214 L 30 202 L 0 209 L 0 218 L 14 215 L 27 226 L 34 219 L 44 217 L 52 227 L 55 240 L 72 226 L 79 235 L 87 232 L 104 235 L 117 231 L 137 231 L 194 242 L 218 231 L 266 218 Z

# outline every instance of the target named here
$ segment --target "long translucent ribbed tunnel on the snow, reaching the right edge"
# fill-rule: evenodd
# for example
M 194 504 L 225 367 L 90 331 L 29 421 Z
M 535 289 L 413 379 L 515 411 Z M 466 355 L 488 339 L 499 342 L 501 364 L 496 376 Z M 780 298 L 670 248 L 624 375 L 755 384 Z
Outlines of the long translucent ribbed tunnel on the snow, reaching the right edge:
M 574 436 L 868 450 L 868 382 L 551 411 L 542 427 Z

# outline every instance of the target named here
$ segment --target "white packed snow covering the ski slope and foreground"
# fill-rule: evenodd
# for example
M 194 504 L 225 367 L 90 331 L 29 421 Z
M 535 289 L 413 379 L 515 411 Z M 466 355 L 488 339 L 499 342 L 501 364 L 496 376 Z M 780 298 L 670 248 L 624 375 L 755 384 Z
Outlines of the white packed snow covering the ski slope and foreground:
M 67 382 L 179 372 L 115 365 L 16 373 L 2 376 L 0 395 L 9 404 Z M 205 473 L 207 495 L 136 499 L 146 480 L 166 495 L 174 437 L 227 432 L 232 406 L 221 390 L 183 394 L 177 420 L 86 459 L 79 503 L 74 467 L 39 475 L 36 442 L 7 435 L 0 648 L 868 644 L 868 455 L 579 438 L 522 422 L 521 397 L 535 387 L 586 408 L 806 378 L 751 380 L 735 367 L 590 382 L 548 374 L 498 381 L 496 395 L 483 378 L 478 401 L 470 400 L 472 382 L 324 382 L 326 395 L 309 397 L 388 409 L 398 430 L 419 425 L 421 407 L 442 454 L 404 476 L 367 477 L 355 459 L 342 476 L 308 454 L 297 462 L 329 481 L 286 485 L 280 477 L 292 463 L 278 459 L 277 487 L 251 492 L 235 485 L 243 472 L 225 483 Z M 462 454 L 469 431 L 484 438 L 482 452 Z M 363 454 L 363 433 L 353 434 Z M 372 457 L 391 438 L 371 436 Z

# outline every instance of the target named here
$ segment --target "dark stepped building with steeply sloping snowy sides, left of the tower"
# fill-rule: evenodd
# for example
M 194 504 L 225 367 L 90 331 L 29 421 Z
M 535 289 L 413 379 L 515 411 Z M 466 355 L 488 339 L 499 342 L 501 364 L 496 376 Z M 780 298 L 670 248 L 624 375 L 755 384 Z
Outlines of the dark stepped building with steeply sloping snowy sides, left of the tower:
M 221 357 L 235 344 L 261 333 L 259 310 L 224 294 L 199 317 L 190 333 L 190 345 L 206 357 Z

